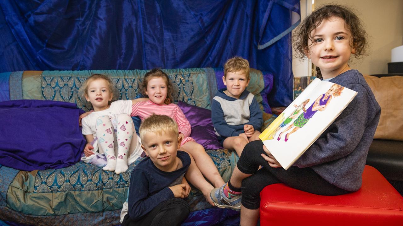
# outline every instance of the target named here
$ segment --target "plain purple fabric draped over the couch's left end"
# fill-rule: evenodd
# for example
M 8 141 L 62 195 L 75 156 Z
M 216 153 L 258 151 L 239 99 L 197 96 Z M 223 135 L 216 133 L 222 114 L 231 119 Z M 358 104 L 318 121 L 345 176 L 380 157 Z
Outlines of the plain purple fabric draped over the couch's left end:
M 59 101 L 0 102 L 0 164 L 24 171 L 75 164 L 86 143 L 80 113 Z

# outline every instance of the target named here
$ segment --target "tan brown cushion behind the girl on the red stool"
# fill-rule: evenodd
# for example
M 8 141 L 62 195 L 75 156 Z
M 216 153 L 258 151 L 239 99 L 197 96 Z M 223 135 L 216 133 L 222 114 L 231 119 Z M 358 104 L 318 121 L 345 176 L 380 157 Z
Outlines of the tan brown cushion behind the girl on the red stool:
M 403 76 L 364 78 L 382 109 L 374 139 L 403 140 Z

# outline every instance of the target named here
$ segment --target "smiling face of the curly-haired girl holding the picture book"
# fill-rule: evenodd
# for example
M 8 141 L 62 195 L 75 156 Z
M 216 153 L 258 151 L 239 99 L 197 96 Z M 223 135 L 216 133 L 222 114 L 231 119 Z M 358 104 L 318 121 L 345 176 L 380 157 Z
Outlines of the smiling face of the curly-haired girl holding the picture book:
M 311 32 L 311 37 L 306 55 L 320 68 L 324 79 L 350 70 L 347 62 L 355 49 L 351 47 L 351 32 L 342 18 L 331 17 L 322 21 Z

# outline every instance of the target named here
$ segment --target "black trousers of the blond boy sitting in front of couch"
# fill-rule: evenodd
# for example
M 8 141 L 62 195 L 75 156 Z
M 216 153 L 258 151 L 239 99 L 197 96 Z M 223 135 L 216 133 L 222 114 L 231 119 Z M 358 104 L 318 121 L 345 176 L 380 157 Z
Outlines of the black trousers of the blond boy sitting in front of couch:
M 189 216 L 189 204 L 180 198 L 172 198 L 156 206 L 140 220 L 133 221 L 129 214 L 123 218 L 122 226 L 179 226 Z

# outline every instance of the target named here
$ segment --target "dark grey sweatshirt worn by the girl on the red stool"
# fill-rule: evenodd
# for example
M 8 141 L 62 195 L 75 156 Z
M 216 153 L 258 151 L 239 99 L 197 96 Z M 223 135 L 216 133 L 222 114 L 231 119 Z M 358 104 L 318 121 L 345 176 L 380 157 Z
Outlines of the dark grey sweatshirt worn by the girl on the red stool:
M 380 106 L 357 70 L 344 72 L 329 82 L 358 93 L 293 165 L 311 167 L 329 183 L 347 191 L 357 191 L 361 187 L 368 149 L 378 125 Z

